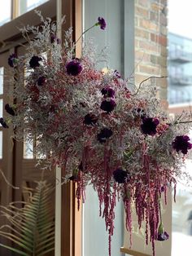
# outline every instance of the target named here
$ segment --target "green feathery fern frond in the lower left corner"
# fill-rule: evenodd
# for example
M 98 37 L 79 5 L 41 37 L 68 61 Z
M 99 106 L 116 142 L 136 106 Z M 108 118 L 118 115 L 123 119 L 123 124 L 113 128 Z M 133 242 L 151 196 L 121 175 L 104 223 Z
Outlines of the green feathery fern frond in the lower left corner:
M 26 189 L 28 202 L 23 208 L 17 208 L 14 202 L 2 206 L 2 216 L 10 225 L 0 227 L 0 236 L 10 240 L 14 247 L 0 246 L 24 256 L 41 256 L 55 249 L 55 210 L 53 196 L 55 188 L 40 181 L 37 188 Z

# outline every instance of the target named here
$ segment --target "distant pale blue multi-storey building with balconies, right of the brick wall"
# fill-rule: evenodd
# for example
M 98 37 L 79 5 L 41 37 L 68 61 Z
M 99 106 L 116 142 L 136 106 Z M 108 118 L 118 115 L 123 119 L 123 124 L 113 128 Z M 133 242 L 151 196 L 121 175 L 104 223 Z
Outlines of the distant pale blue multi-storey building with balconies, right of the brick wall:
M 192 102 L 192 39 L 175 33 L 168 33 L 168 102 Z

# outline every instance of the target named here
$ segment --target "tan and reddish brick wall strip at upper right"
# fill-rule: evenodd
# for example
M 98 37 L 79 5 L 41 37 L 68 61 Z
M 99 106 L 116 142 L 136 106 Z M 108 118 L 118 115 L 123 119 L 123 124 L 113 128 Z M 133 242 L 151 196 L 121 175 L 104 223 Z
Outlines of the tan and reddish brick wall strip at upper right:
M 135 82 L 150 76 L 167 76 L 167 2 L 135 0 Z M 167 80 L 160 86 L 160 97 L 167 107 Z

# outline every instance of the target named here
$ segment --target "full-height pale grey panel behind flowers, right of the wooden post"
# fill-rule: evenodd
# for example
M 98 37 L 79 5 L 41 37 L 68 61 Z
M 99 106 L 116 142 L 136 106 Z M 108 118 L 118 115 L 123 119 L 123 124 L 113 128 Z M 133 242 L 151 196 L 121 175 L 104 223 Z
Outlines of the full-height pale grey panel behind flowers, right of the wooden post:
M 85 39 L 94 38 L 94 45 L 99 49 L 109 46 L 111 54 L 107 64 L 103 62 L 101 68 L 110 66 L 114 70 L 122 73 L 124 63 L 121 62 L 122 48 L 122 20 L 123 2 L 116 0 L 100 1 L 85 0 L 85 29 L 88 29 L 98 19 L 98 15 L 107 19 L 107 32 L 101 33 L 99 29 L 92 29 L 85 34 Z M 116 18 L 114 18 L 116 17 Z M 85 30 L 84 29 L 84 30 Z M 116 37 L 114 35 L 116 34 Z M 104 70 L 107 70 L 105 68 Z M 83 256 L 108 255 L 108 232 L 106 231 L 105 221 L 99 217 L 99 204 L 97 192 L 91 186 L 86 187 L 85 204 L 83 208 Z M 121 256 L 120 247 L 123 245 L 123 205 L 117 203 L 115 218 L 114 236 L 111 240 L 111 256 Z

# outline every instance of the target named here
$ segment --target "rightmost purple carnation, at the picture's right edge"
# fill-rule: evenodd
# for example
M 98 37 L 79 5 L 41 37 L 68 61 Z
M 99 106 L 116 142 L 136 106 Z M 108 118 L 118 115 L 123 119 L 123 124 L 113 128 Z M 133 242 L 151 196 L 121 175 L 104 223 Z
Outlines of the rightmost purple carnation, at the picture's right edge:
M 187 135 L 177 136 L 172 142 L 172 148 L 177 152 L 181 151 L 183 154 L 187 154 L 188 149 L 192 148 L 192 143 L 189 141 L 190 138 Z

